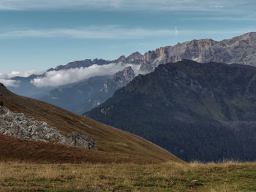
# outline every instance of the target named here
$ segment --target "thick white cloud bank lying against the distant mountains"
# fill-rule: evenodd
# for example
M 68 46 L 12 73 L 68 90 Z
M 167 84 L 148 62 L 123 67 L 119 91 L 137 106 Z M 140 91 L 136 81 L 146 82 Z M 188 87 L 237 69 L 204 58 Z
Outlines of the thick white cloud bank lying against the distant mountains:
M 31 83 L 40 88 L 46 86 L 57 87 L 69 83 L 79 82 L 89 79 L 94 76 L 111 75 L 123 70 L 126 66 L 132 66 L 135 73 L 138 74 L 140 66 L 131 64 L 107 64 L 107 65 L 92 65 L 86 68 L 75 68 L 60 71 L 46 72 L 45 77 L 37 77 L 31 80 Z

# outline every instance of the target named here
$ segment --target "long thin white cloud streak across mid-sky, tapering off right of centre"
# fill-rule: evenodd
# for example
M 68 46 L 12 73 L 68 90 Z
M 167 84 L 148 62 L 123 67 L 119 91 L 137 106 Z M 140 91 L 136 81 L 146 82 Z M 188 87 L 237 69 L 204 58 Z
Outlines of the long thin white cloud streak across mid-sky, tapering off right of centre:
M 18 30 L 0 32 L 1 39 L 26 38 L 26 37 L 69 37 L 77 39 L 127 39 L 156 36 L 175 35 L 175 30 L 170 29 L 145 29 L 145 28 L 117 28 L 115 26 L 98 26 L 91 28 L 63 28 L 42 30 Z

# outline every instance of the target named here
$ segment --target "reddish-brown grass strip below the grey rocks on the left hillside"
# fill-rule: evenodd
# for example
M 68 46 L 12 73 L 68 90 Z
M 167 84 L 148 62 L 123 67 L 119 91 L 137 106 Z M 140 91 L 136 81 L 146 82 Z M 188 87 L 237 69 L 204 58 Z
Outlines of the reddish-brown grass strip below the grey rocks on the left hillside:
M 20 161 L 37 164 L 108 164 L 128 163 L 151 164 L 135 155 L 86 150 L 80 147 L 56 145 L 46 142 L 28 141 L 0 134 L 0 161 Z

